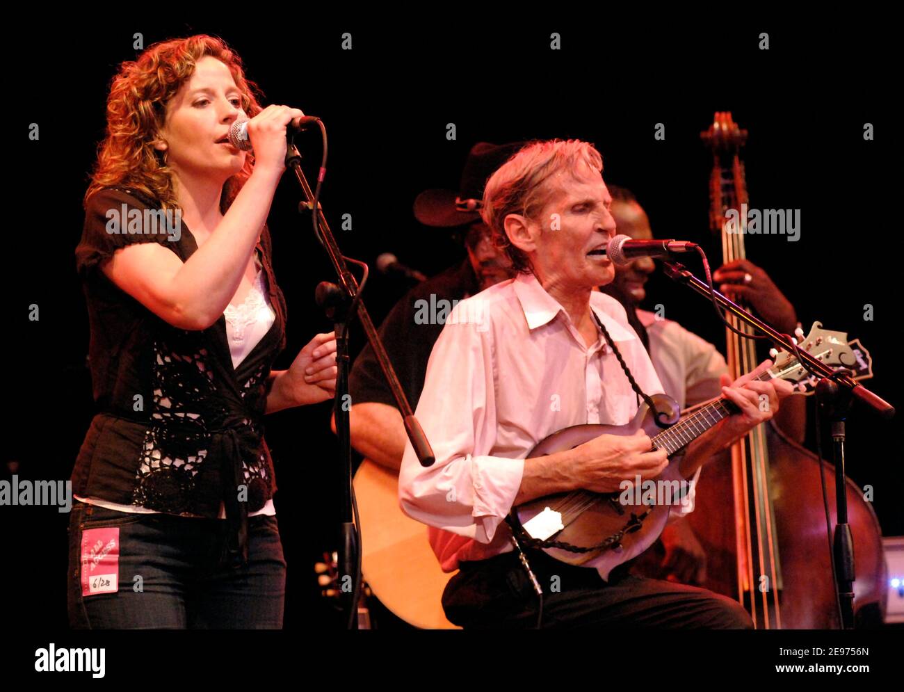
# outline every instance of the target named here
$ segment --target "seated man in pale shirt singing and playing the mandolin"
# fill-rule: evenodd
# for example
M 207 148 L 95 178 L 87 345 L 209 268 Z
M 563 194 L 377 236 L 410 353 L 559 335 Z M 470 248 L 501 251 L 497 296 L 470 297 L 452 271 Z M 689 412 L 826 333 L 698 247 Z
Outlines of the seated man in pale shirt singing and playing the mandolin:
M 487 182 L 482 214 L 519 273 L 449 316 L 417 409 L 436 463 L 421 468 L 408 445 L 400 506 L 431 526 L 443 569 L 460 569 L 443 607 L 463 627 L 532 627 L 541 614 L 546 627 L 749 628 L 737 602 L 712 592 L 620 567 L 604 580 L 592 560 L 574 566 L 535 549 L 524 550 L 529 573 L 513 548 L 513 507 L 579 488 L 618 492 L 623 480 L 655 479 L 668 465 L 643 431 L 526 458 L 563 428 L 626 425 L 636 391 L 663 391 L 625 309 L 593 290 L 614 276 L 605 248 L 616 224 L 601 170 L 588 143 L 554 140 L 524 147 Z M 791 393 L 780 380 L 753 379 L 767 365 L 722 388 L 738 412 L 685 448 L 683 478 Z

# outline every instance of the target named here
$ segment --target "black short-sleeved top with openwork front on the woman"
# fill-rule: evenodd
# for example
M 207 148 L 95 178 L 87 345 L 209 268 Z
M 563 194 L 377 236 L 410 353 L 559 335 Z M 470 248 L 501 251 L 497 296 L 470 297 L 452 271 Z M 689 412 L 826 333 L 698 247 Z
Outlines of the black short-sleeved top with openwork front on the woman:
M 226 322 L 186 330 L 158 318 L 99 268 L 118 248 L 159 242 L 187 261 L 197 250 L 181 221 L 125 187 L 89 198 L 76 268 L 88 305 L 89 365 L 98 412 L 72 471 L 77 495 L 171 514 L 235 522 L 277 489 L 261 419 L 271 365 L 286 345 L 286 303 L 269 232 L 257 245 L 276 318 L 233 368 Z M 156 214 L 156 223 L 148 221 Z M 138 219 L 141 221 L 138 221 Z M 147 232 L 156 230 L 156 232 Z M 242 519 L 244 521 L 244 519 Z

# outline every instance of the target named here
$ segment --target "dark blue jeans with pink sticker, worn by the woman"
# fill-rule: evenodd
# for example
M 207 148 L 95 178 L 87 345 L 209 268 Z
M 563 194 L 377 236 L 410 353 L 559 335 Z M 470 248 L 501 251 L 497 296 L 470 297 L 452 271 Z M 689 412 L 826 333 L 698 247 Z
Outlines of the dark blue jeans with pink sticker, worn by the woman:
M 91 529 L 105 530 L 85 536 Z M 118 536 L 109 529 L 118 529 Z M 84 547 L 83 536 L 87 538 Z M 111 541 L 111 536 L 118 540 Z M 281 629 L 286 560 L 277 517 L 249 517 L 245 566 L 221 564 L 226 539 L 226 522 L 221 519 L 131 514 L 74 502 L 69 526 L 70 626 L 110 630 Z M 83 550 L 87 560 L 82 559 Z M 96 569 L 107 574 L 107 581 L 89 576 L 95 555 L 106 561 Z M 117 577 L 115 586 L 106 585 L 113 583 L 113 574 Z M 89 582 L 97 592 L 83 595 Z M 115 592 L 104 592 L 113 588 Z

